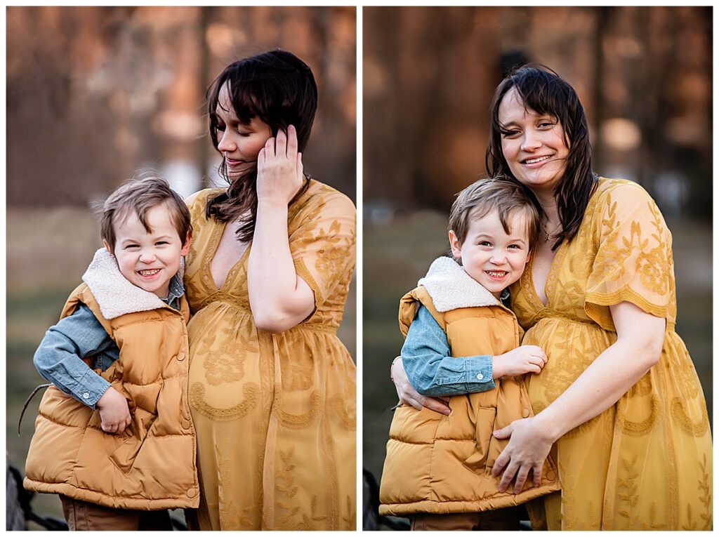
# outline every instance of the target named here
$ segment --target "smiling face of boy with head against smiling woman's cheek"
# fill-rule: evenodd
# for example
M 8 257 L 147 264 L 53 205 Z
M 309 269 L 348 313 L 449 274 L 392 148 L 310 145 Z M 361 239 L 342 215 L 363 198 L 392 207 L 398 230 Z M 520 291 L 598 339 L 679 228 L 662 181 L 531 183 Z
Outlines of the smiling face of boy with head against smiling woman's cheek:
M 481 218 L 470 215 L 462 244 L 454 231 L 449 231 L 452 255 L 461 258 L 467 274 L 496 298 L 519 280 L 529 260 L 526 218 L 523 211 L 513 211 L 507 218 L 510 230 L 507 234 L 497 211 L 489 211 Z

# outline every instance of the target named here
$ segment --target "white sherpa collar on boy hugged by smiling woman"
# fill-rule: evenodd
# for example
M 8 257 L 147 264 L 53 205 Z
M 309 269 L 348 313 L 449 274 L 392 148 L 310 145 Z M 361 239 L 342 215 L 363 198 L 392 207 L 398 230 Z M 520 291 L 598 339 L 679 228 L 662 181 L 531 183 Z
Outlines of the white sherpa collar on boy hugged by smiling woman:
M 476 306 L 500 306 L 500 301 L 492 293 L 449 257 L 437 257 L 427 275 L 417 285 L 427 290 L 439 312 Z

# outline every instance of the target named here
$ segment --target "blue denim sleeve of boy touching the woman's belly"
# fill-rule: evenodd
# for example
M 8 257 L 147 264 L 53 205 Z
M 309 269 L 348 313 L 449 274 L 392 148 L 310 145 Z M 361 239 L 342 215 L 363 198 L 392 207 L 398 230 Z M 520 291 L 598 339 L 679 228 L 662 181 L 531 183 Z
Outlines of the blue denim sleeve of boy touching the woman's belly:
M 462 395 L 493 390 L 491 355 L 452 357 L 446 334 L 424 306 L 402 346 L 410 384 L 422 395 Z

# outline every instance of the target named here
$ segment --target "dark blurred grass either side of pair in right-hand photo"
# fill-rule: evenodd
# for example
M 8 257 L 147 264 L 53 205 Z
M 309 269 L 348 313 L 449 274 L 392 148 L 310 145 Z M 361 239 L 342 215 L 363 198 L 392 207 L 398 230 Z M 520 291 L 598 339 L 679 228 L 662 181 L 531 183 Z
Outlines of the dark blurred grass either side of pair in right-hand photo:
M 446 217 L 422 211 L 363 234 L 363 438 L 362 464 L 379 480 L 385 443 L 397 402 L 389 364 L 401 346 L 399 298 L 443 254 Z M 708 225 L 669 222 L 677 277 L 677 333 L 694 361 L 712 420 L 712 239 Z

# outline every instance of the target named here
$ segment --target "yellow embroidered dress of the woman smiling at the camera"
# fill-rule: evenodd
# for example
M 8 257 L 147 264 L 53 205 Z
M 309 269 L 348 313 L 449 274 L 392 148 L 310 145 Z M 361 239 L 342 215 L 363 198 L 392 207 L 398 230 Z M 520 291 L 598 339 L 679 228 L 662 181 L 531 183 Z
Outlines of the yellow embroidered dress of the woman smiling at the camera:
M 535 413 L 616 341 L 608 306 L 626 300 L 667 319 L 659 363 L 552 448 L 562 491 L 532 502 L 533 522 L 546 518 L 549 530 L 711 528 L 706 403 L 674 331 L 672 236 L 654 201 L 636 183 L 600 179 L 579 233 L 557 249 L 546 306 L 534 290 L 531 262 L 512 296 L 526 329 L 523 344 L 539 345 L 549 357 L 541 374 L 528 375 Z

